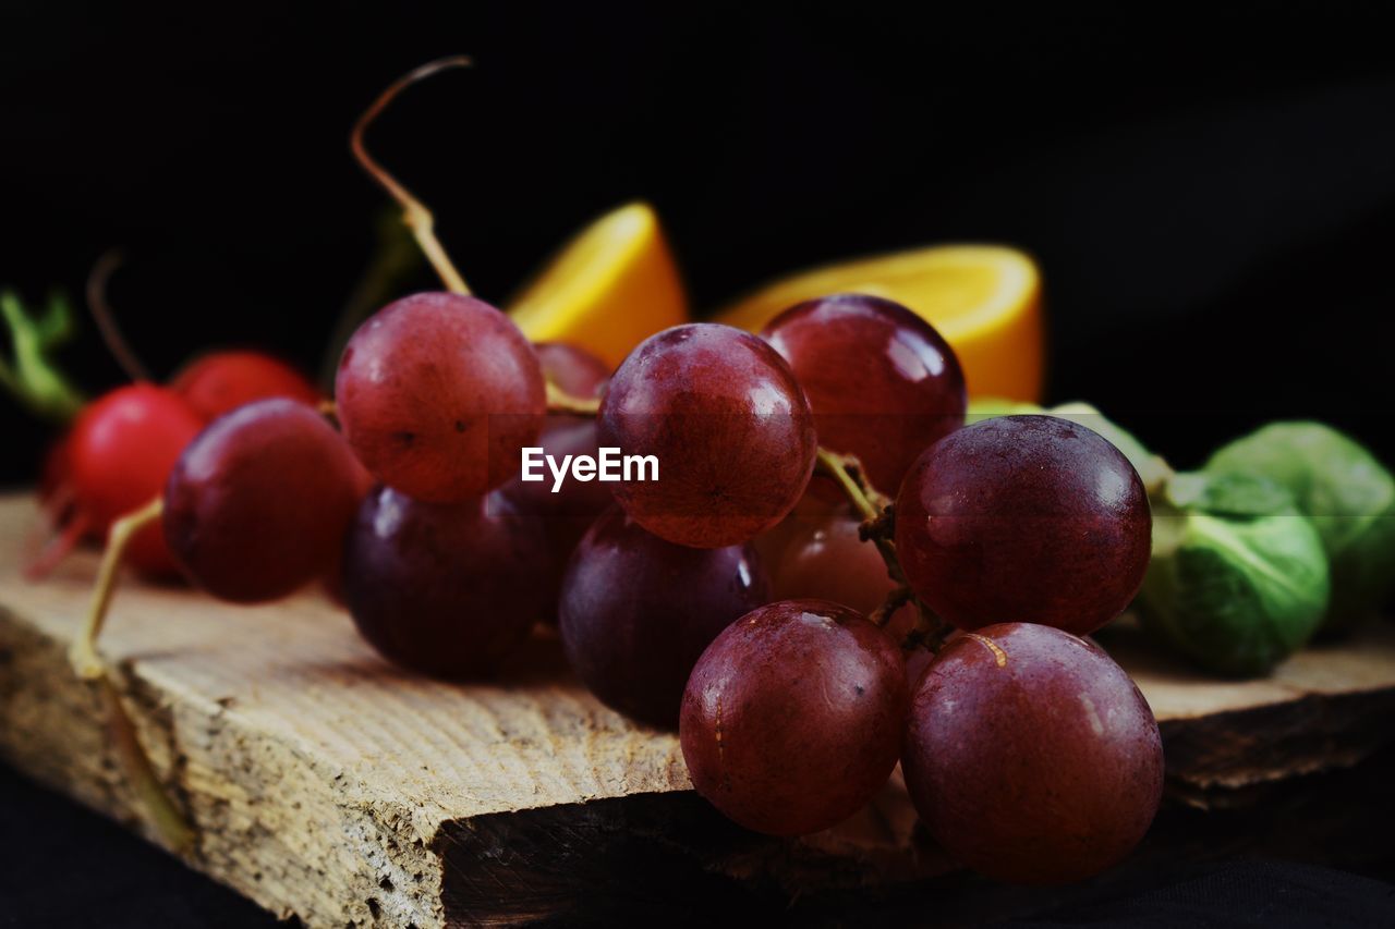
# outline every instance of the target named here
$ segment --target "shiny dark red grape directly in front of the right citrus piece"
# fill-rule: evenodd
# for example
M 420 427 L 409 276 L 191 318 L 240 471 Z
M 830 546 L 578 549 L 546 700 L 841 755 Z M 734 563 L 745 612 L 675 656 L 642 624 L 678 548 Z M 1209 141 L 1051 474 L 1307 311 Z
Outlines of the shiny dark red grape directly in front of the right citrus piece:
M 763 336 L 804 386 L 819 444 L 857 455 L 883 494 L 894 495 L 919 453 L 964 424 L 954 350 L 898 303 L 858 293 L 809 300 Z M 816 487 L 837 492 L 827 481 Z

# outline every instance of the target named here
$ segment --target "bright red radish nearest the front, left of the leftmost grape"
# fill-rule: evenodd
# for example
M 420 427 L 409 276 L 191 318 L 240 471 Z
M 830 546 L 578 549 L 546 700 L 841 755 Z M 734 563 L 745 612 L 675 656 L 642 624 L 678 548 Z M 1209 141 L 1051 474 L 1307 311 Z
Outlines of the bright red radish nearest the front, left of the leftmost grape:
M 202 428 L 183 398 L 153 384 L 120 386 L 89 403 L 67 438 L 75 520 L 105 537 L 116 519 L 165 490 L 174 462 Z M 179 572 L 159 526 L 131 540 L 128 558 L 149 575 Z

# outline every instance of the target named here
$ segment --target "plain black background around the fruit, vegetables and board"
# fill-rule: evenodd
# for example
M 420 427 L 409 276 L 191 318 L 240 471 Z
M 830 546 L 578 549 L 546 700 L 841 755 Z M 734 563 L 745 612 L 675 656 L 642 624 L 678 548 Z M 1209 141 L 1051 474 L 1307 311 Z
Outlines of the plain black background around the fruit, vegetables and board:
M 1182 466 L 1276 416 L 1329 420 L 1392 460 L 1395 53 L 1378 14 L 6 3 L 0 285 L 78 293 L 121 246 L 112 300 L 158 374 L 236 343 L 314 370 L 384 204 L 349 127 L 398 74 L 469 52 L 473 73 L 414 88 L 372 144 L 487 299 L 636 197 L 699 307 L 859 252 L 1006 241 L 1043 266 L 1050 399 L 1095 402 Z M 91 328 L 63 361 L 93 392 L 121 378 Z M 0 403 L 0 483 L 31 480 L 46 427 Z M 6 784 L 0 870 L 35 904 L 0 915 L 81 923 L 135 894 L 156 909 L 131 925 L 259 922 Z M 102 852 L 109 897 L 15 868 L 14 836 L 54 820 L 52 858 Z

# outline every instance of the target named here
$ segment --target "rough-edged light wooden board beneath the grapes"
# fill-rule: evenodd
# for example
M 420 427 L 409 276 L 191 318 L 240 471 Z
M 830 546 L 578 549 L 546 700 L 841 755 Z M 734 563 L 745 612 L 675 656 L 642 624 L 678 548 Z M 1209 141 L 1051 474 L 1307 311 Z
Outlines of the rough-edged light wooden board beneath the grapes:
M 0 498 L 0 752 L 144 831 L 98 695 L 66 654 L 95 557 L 27 583 L 33 526 L 32 501 Z M 565 916 L 580 896 L 663 894 L 677 876 L 684 893 L 727 880 L 799 893 L 951 868 L 915 833 L 896 778 L 829 833 L 777 841 L 731 826 L 689 790 L 674 735 L 600 706 L 547 635 L 501 682 L 456 686 L 386 665 L 312 593 L 241 608 L 127 582 L 102 644 L 198 830 L 190 863 L 310 926 Z M 1349 764 L 1392 734 L 1388 625 L 1243 683 L 1172 667 L 1127 629 L 1106 644 L 1193 799 Z

